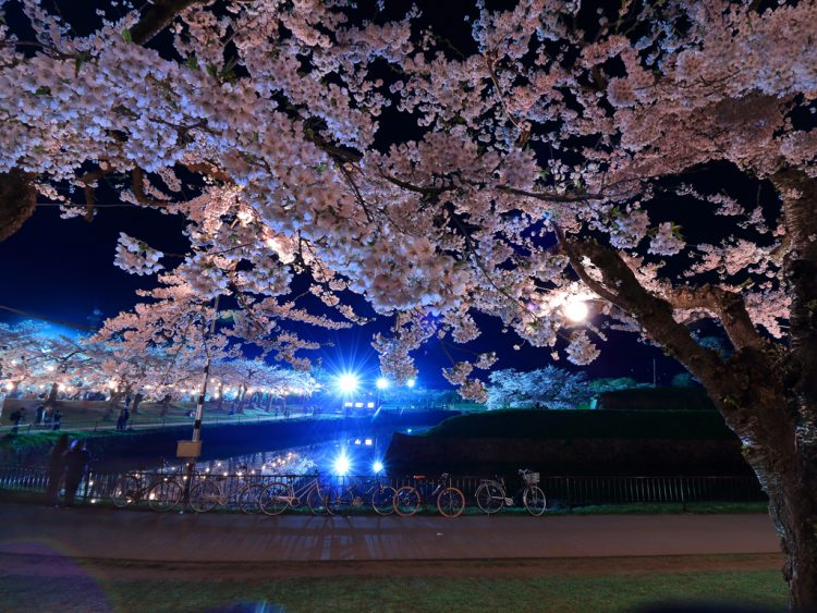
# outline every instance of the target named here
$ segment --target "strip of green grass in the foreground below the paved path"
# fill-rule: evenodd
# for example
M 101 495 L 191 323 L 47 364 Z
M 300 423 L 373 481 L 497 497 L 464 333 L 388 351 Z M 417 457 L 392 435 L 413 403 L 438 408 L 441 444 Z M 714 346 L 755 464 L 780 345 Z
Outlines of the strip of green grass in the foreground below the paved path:
M 0 577 L 4 611 L 627 611 L 668 601 L 781 609 L 777 571 L 651 575 L 333 576 L 255 580 Z M 266 604 L 266 609 L 257 606 Z M 221 609 L 227 610 L 227 609 Z M 235 609 L 229 609 L 234 611 Z

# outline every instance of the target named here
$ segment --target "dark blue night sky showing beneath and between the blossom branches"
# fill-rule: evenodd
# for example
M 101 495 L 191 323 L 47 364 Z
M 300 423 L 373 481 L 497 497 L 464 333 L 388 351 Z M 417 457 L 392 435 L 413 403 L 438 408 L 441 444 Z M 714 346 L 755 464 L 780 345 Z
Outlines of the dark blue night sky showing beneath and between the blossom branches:
M 88 7 L 84 5 L 85 10 L 77 15 L 70 3 L 58 4 L 78 33 L 93 27 L 95 20 Z M 107 2 L 92 4 L 117 10 Z M 456 3 L 435 5 L 437 21 L 434 25 L 465 48 L 473 41 L 470 36 L 463 36 L 467 35 L 470 27 L 468 24 L 463 27 L 462 10 Z M 7 19 L 14 28 L 16 20 L 13 12 Z M 447 32 L 451 27 L 456 27 L 456 30 Z M 159 47 L 167 44 L 162 42 L 161 37 L 155 42 Z M 401 123 L 405 125 L 405 122 Z M 388 135 L 381 137 L 389 139 Z M 117 204 L 114 192 L 105 192 L 107 194 L 99 195 L 99 201 L 102 205 Z M 130 275 L 113 266 L 119 232 L 145 240 L 158 249 L 180 253 L 185 250 L 185 241 L 181 235 L 183 225 L 181 217 L 130 206 L 100 208 L 93 223 L 81 219 L 61 220 L 57 207 L 38 207 L 20 232 L 0 243 L 0 305 L 78 326 L 98 326 L 98 318 L 95 321 L 93 315 L 95 309 L 101 311 L 103 317 L 129 309 L 136 302 L 134 291 L 154 283 L 153 279 Z M 0 309 L 0 321 L 20 319 L 20 316 Z M 485 333 L 470 348 L 474 352 L 496 351 L 500 357 L 496 368 L 529 370 L 551 363 L 550 350 L 523 346 L 521 351 L 514 351 L 513 345 L 520 342 L 514 334 L 503 334 L 501 324 L 496 320 L 485 317 L 477 317 L 477 320 L 484 324 Z M 386 331 L 387 328 L 388 321 L 381 319 L 364 328 L 340 332 L 303 328 L 298 332 L 306 338 L 333 343 L 334 346 L 320 352 L 328 368 L 356 367 L 374 376 L 377 356 L 369 345 L 369 339 L 374 332 Z M 592 377 L 627 376 L 651 381 L 654 359 L 658 364 L 659 383 L 669 383 L 673 375 L 683 370 L 659 350 L 638 343 L 632 334 L 610 332 L 609 339 L 610 342 L 602 345 L 606 351 L 602 351 L 601 357 L 587 367 Z M 467 358 L 471 354 L 454 353 L 453 357 Z M 439 371 L 449 366 L 450 360 L 436 340 L 429 341 L 418 352 L 417 358 L 422 384 L 447 385 Z M 576 369 L 564 358 L 556 364 Z

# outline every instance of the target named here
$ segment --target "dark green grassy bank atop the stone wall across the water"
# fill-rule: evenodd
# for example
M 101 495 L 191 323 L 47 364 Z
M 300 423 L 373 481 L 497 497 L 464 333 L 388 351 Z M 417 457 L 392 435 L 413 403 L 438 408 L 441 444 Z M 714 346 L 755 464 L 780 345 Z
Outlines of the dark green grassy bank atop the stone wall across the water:
M 707 410 L 491 410 L 451 417 L 423 436 L 535 440 L 734 439 L 723 418 Z

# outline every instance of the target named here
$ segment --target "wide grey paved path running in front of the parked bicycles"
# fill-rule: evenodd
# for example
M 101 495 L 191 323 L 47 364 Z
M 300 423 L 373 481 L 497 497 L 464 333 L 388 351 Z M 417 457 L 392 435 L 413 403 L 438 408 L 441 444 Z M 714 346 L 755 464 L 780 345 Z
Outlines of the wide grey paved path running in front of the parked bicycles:
M 163 562 L 778 553 L 766 515 L 279 517 L 0 504 L 0 553 Z

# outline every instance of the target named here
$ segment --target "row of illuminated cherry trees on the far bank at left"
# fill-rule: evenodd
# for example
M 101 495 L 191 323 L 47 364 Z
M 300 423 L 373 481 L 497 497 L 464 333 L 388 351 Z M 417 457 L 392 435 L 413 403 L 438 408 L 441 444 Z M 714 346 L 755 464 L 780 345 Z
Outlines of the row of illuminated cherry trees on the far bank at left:
M 316 382 L 307 371 L 281 368 L 263 359 L 247 359 L 219 346 L 209 347 L 212 368 L 208 399 L 235 391 L 244 404 L 260 394 L 266 399 L 310 394 Z M 53 334 L 37 322 L 0 323 L 0 388 L 9 394 L 84 399 L 105 393 L 111 407 L 126 395 L 195 399 L 203 379 L 204 354 L 194 346 L 149 346 L 129 340 L 98 342 L 88 336 Z

